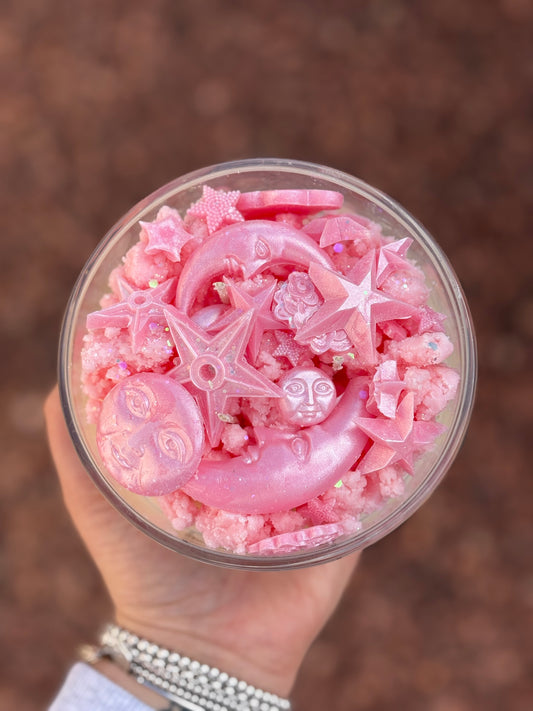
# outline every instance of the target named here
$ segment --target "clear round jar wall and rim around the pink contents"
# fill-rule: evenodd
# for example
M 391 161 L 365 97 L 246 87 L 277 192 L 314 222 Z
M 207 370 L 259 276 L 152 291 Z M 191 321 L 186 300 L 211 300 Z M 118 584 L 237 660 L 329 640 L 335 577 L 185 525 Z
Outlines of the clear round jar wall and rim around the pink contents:
M 361 519 L 361 529 L 332 543 L 276 556 L 208 548 L 194 529 L 172 528 L 156 499 L 134 494 L 109 475 L 96 444 L 96 427 L 86 418 L 81 385 L 81 350 L 86 317 L 99 308 L 109 291 L 110 272 L 138 241 L 140 220 L 152 221 L 164 206 L 182 215 L 202 194 L 202 186 L 241 192 L 280 189 L 333 190 L 344 196 L 343 212 L 355 212 L 378 223 L 384 235 L 413 240 L 409 257 L 422 269 L 430 288 L 428 305 L 446 315 L 445 330 L 454 344 L 446 365 L 460 375 L 456 397 L 438 416 L 445 426 L 433 447 L 416 459 L 405 493 Z M 82 270 L 67 305 L 59 346 L 59 384 L 68 427 L 89 476 L 131 523 L 178 553 L 221 566 L 281 570 L 325 563 L 365 548 L 402 524 L 428 498 L 452 464 L 473 406 L 476 348 L 472 321 L 458 280 L 435 240 L 403 207 L 379 190 L 332 168 L 291 160 L 253 159 L 210 166 L 189 173 L 141 200 L 105 235 Z

